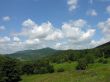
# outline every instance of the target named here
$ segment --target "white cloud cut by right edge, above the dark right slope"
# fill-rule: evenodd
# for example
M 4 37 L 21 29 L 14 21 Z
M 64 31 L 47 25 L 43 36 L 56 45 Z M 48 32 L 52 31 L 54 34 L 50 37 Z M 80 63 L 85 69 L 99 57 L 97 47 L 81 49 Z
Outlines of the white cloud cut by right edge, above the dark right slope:
M 98 46 L 110 41 L 110 18 L 106 21 L 99 22 L 97 27 L 101 30 L 103 36 L 99 40 L 91 40 L 91 46 Z

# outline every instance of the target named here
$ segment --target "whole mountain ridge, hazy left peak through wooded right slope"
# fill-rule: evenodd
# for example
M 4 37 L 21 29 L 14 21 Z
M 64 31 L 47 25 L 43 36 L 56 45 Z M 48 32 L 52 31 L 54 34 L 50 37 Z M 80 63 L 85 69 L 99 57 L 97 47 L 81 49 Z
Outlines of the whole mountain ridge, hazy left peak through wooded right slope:
M 68 60 L 69 58 L 76 60 L 77 58 L 81 56 L 83 57 L 86 54 L 91 54 L 91 55 L 94 54 L 96 56 L 102 56 L 103 54 L 105 54 L 106 56 L 110 56 L 110 42 L 107 42 L 92 49 L 55 50 L 51 48 L 43 48 L 38 50 L 19 51 L 13 54 L 8 54 L 8 56 L 20 60 L 37 60 L 43 58 L 52 61 L 63 62 Z

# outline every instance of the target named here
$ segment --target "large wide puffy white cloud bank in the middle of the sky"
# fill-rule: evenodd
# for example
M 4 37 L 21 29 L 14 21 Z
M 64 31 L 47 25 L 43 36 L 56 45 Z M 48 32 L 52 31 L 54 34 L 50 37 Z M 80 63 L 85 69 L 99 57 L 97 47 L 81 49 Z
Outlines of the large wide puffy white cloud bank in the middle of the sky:
M 54 27 L 50 22 L 43 23 L 41 25 L 35 24 L 31 19 L 23 22 L 24 29 L 20 33 L 22 36 L 27 36 L 30 39 L 42 39 L 42 40 L 59 40 L 63 38 L 89 38 L 89 33 L 94 32 L 89 29 L 84 32 L 82 28 L 87 25 L 87 22 L 83 19 L 70 21 L 64 23 L 61 28 Z M 28 28 L 29 27 L 29 28 Z

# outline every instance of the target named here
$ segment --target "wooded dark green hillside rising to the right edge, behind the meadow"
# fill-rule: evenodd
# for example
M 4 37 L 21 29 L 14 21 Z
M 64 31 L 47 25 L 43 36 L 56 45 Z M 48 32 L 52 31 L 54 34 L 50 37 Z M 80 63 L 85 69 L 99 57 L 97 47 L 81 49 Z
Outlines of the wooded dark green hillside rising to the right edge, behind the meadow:
M 68 60 L 76 61 L 85 56 L 94 56 L 96 58 L 99 57 L 110 57 L 110 42 L 102 44 L 92 49 L 83 49 L 83 50 L 64 50 L 56 52 L 52 56 L 48 56 L 45 59 L 50 60 L 55 63 L 62 63 Z

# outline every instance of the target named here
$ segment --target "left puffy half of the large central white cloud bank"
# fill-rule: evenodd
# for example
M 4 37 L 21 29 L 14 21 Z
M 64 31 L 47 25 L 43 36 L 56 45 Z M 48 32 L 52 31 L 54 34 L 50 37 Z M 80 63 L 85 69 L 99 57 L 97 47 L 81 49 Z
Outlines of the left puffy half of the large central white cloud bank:
M 23 30 L 20 35 L 28 36 L 29 38 L 44 38 L 50 32 L 53 32 L 53 26 L 50 22 L 38 26 L 31 19 L 28 19 L 23 22 Z

